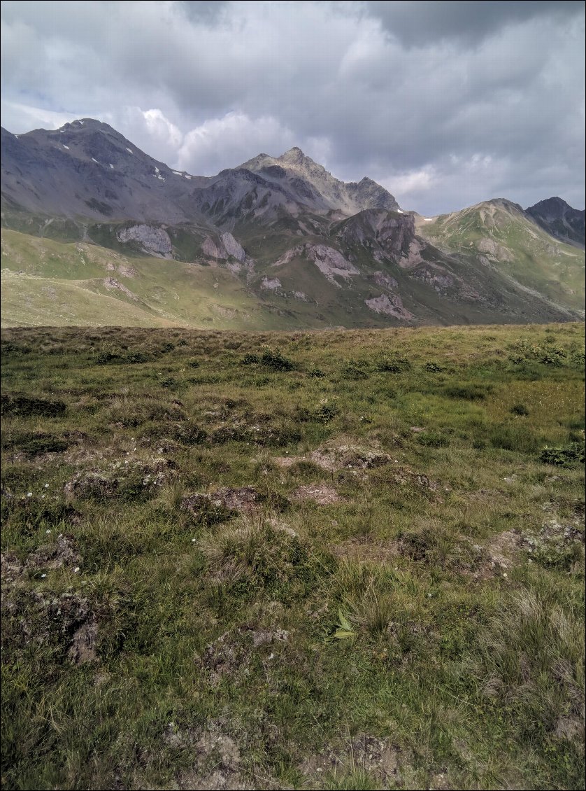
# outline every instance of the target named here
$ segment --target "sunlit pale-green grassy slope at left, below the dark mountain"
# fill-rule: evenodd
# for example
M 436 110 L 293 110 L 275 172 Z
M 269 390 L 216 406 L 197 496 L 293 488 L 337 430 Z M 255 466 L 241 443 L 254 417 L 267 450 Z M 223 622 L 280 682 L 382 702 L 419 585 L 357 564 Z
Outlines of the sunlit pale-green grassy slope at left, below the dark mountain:
M 276 313 L 220 267 L 126 256 L 96 244 L 63 243 L 6 229 L 2 267 L 4 326 L 279 324 Z

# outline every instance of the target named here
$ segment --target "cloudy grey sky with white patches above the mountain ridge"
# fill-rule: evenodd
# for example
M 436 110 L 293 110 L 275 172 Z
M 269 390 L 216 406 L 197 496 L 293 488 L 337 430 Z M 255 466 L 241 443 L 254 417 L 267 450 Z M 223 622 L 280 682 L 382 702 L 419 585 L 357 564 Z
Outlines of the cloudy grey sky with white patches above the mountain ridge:
M 210 176 L 299 146 L 427 216 L 584 208 L 584 2 L 2 2 L 2 126 Z

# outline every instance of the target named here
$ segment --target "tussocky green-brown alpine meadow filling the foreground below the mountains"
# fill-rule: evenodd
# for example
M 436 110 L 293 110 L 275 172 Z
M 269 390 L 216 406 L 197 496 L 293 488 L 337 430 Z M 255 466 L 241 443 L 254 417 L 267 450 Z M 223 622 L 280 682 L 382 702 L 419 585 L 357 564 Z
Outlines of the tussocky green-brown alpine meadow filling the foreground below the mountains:
M 2 333 L 3 788 L 584 787 L 584 327 Z

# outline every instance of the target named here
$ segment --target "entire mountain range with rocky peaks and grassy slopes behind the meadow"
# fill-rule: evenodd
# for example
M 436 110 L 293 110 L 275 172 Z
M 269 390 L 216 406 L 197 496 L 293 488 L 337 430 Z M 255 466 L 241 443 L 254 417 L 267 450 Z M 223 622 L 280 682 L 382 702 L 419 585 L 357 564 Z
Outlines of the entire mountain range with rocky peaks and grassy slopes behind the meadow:
M 2 130 L 2 321 L 83 324 L 88 310 L 92 324 L 250 329 L 572 320 L 584 308 L 580 217 L 583 240 L 584 212 L 560 199 L 420 218 L 299 148 L 205 177 L 92 119 Z

